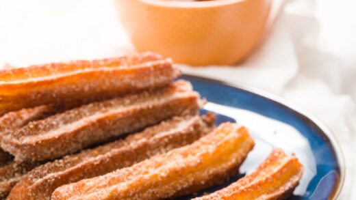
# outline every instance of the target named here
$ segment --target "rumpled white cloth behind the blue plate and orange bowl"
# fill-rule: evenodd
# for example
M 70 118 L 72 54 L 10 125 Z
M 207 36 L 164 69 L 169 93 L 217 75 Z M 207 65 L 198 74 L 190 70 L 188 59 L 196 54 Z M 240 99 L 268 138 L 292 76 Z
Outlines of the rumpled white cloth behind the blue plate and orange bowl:
M 336 134 L 346 156 L 346 184 L 340 199 L 356 199 L 356 192 L 351 193 L 356 186 L 351 154 L 356 150 L 352 145 L 356 141 L 353 8 L 353 0 L 295 0 L 263 44 L 238 67 L 183 67 L 185 72 L 266 89 L 320 118 Z M 131 51 L 112 0 L 0 2 L 0 66 Z

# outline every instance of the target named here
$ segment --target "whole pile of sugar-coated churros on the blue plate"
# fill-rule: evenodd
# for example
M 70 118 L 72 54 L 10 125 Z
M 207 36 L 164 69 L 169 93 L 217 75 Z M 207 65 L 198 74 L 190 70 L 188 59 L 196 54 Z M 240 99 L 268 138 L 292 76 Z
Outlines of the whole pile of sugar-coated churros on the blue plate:
M 155 53 L 0 71 L 0 199 L 169 199 L 238 174 L 255 145 L 214 126 L 205 102 Z M 277 149 L 201 199 L 277 199 L 303 167 Z

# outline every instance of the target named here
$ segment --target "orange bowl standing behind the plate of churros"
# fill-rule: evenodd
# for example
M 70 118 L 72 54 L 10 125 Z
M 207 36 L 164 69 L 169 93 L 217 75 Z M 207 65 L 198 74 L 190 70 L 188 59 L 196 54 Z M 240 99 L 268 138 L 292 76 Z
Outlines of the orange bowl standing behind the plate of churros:
M 242 61 L 262 38 L 271 0 L 115 0 L 138 51 L 192 66 Z

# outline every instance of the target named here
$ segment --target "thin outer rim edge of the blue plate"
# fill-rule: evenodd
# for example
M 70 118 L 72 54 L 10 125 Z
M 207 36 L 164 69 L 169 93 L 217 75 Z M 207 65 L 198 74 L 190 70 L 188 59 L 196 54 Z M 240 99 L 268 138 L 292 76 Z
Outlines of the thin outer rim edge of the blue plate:
M 340 166 L 340 182 L 336 188 L 335 191 L 333 191 L 333 195 L 331 199 L 337 199 L 340 197 L 340 194 L 342 190 L 344 189 L 344 182 L 345 182 L 345 177 L 346 177 L 346 165 L 345 165 L 345 158 L 344 154 L 342 152 L 342 148 L 340 145 L 340 142 L 338 141 L 338 138 L 335 136 L 333 131 L 324 123 L 322 122 L 318 117 L 316 117 L 314 114 L 310 113 L 309 111 L 306 111 L 305 109 L 301 108 L 300 106 L 297 106 L 296 104 L 289 102 L 285 98 L 281 96 L 277 96 L 276 94 L 272 94 L 268 91 L 265 91 L 264 89 L 259 89 L 255 86 L 248 85 L 246 83 L 231 83 L 229 81 L 221 81 L 215 78 L 210 78 L 206 76 L 199 76 L 196 74 L 190 74 L 187 72 L 183 72 L 181 76 L 188 76 L 196 79 L 203 79 L 205 81 L 210 81 L 212 83 L 218 83 L 220 85 L 227 85 L 229 87 L 233 87 L 236 89 L 243 89 L 246 91 L 249 91 L 253 94 L 257 94 L 259 96 L 262 96 L 264 98 L 268 98 L 274 102 L 277 102 L 279 104 L 283 104 L 284 106 L 288 107 L 288 109 L 292 109 L 293 111 L 296 111 L 299 115 L 303 115 L 310 121 L 314 122 L 316 126 L 318 126 L 322 132 L 325 133 L 325 135 L 328 137 L 328 139 L 331 142 L 331 146 L 333 147 L 335 151 L 335 156 L 336 160 L 338 161 L 338 164 Z M 183 78 L 183 77 L 182 77 Z

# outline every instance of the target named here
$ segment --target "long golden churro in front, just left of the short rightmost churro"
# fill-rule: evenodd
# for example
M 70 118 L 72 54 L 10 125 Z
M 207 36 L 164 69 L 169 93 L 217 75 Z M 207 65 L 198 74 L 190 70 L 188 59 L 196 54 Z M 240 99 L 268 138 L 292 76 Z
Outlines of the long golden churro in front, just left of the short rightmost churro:
M 253 145 L 246 128 L 221 124 L 191 145 L 61 186 L 52 199 L 164 199 L 185 195 L 236 174 Z

